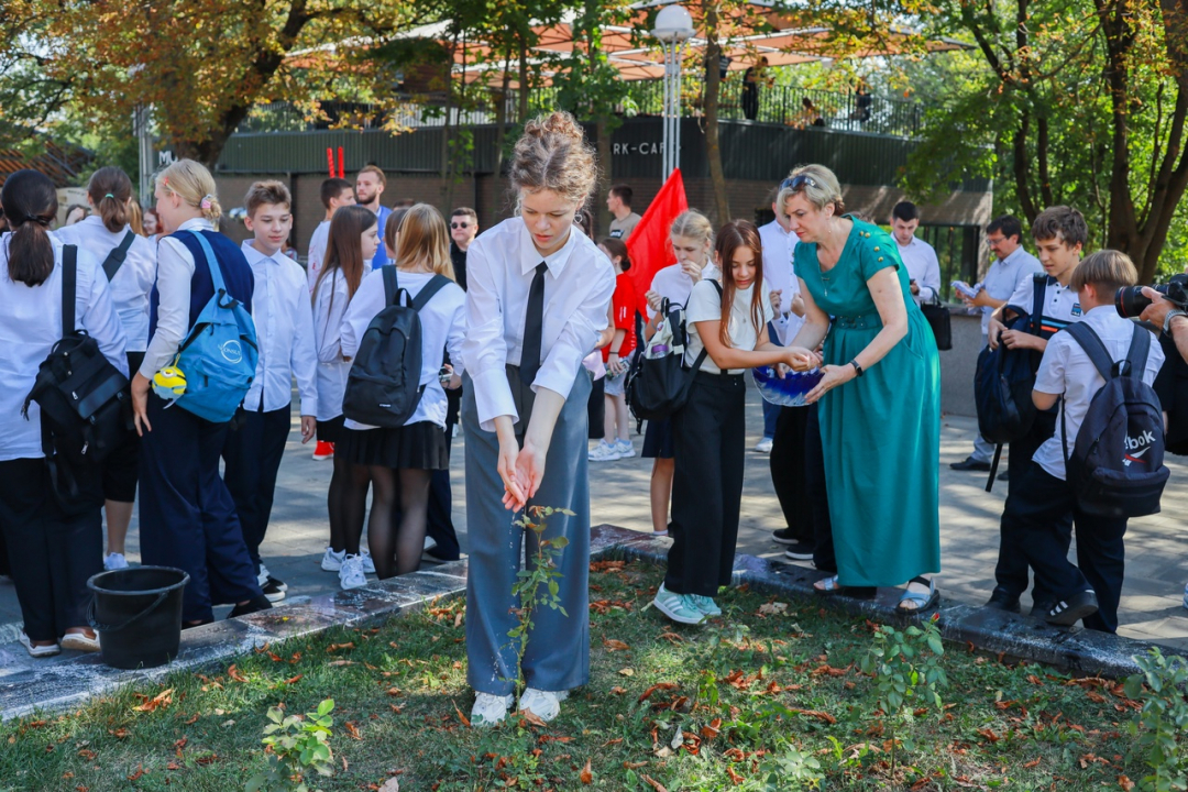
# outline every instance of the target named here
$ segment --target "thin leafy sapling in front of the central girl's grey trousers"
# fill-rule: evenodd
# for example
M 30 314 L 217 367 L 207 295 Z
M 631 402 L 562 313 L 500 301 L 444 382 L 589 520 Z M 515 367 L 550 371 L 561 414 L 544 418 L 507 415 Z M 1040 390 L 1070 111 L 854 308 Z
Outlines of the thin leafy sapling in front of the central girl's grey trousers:
M 529 506 L 514 522 L 525 533 L 531 532 L 536 536 L 536 553 L 531 555 L 524 569 L 516 574 L 516 583 L 512 585 L 512 596 L 519 600 L 520 607 L 516 609 L 517 626 L 507 631 L 507 638 L 516 646 L 516 683 L 520 689 L 524 688 L 522 667 L 524 653 L 527 652 L 527 642 L 536 626 L 532 616 L 537 608 L 550 608 L 561 612 L 562 616 L 569 616 L 561 604 L 561 571 L 557 569 L 557 562 L 569 539 L 561 536 L 549 539 L 544 537 L 548 519 L 554 514 L 574 517 L 567 508 Z

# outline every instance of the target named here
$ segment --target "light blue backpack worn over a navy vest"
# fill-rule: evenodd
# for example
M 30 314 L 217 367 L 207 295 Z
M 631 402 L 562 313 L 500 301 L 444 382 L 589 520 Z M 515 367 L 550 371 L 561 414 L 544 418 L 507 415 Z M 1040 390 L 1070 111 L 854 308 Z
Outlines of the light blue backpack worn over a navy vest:
M 185 375 L 185 393 L 177 406 L 198 418 L 222 424 L 235 416 L 255 379 L 260 351 L 255 322 L 247 308 L 227 293 L 219 259 L 206 237 L 190 232 L 202 246 L 215 294 L 207 303 L 177 350 L 173 366 Z

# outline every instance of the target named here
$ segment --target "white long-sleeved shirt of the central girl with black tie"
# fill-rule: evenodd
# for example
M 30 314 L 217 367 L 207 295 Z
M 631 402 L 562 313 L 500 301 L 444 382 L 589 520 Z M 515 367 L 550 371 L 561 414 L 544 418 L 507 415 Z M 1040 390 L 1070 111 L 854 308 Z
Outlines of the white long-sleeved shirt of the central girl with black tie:
M 466 341 L 462 360 L 474 381 L 479 425 L 494 431 L 494 419 L 519 420 L 505 366 L 519 366 L 527 319 L 527 293 L 541 262 L 544 322 L 541 368 L 532 389 L 563 397 L 607 325 L 614 293 L 614 267 L 580 229 L 571 228 L 560 251 L 542 256 L 527 226 L 511 217 L 479 235 L 466 260 Z

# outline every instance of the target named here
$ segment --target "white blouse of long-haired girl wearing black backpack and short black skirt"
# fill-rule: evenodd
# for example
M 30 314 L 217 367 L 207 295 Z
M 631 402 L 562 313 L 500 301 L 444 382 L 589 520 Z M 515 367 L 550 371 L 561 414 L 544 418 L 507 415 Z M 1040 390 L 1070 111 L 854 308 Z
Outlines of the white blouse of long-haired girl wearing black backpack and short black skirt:
M 381 271 L 377 270 L 377 273 Z M 428 272 L 400 272 L 397 281 L 400 289 L 409 292 L 412 299 L 417 298 L 421 290 L 432 278 Z M 365 279 L 355 292 L 355 298 L 350 300 L 342 318 L 342 354 L 354 357 L 359 351 L 359 342 L 362 341 L 367 325 L 375 318 L 375 315 L 384 310 L 386 294 L 384 292 L 384 277 L 375 274 Z M 441 372 L 442 360 L 446 349 L 449 349 L 450 360 L 454 361 L 454 372 L 462 373 L 462 336 L 466 332 L 466 292 L 455 283 L 449 283 L 434 294 L 421 311 L 421 384 L 425 387 L 421 395 L 421 403 L 416 412 L 405 422 L 405 425 L 428 420 L 446 429 L 446 391 L 442 388 L 437 373 Z M 347 418 L 346 425 L 349 429 L 374 429 L 366 424 Z

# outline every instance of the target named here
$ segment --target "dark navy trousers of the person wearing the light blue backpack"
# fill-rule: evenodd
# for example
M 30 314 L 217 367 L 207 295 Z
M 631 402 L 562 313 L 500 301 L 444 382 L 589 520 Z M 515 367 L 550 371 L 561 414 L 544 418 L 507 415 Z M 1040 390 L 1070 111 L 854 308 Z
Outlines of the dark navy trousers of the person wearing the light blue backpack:
M 152 431 L 140 438 L 140 558 L 190 575 L 182 619 L 213 619 L 211 606 L 260 596 L 235 501 L 219 477 L 227 424 L 148 394 Z M 97 558 L 99 556 L 96 556 Z

